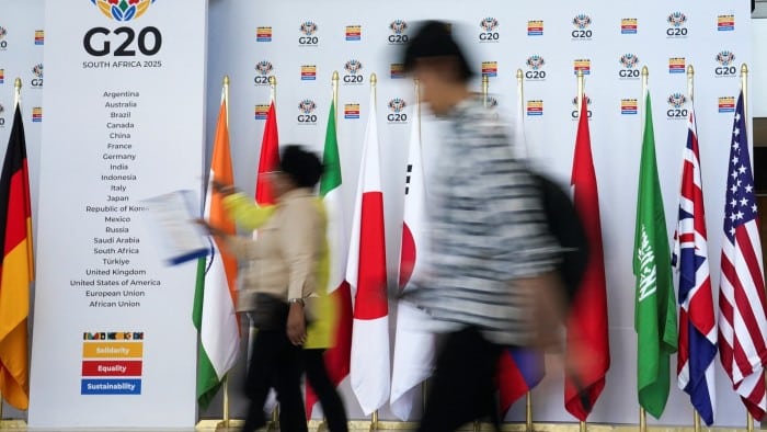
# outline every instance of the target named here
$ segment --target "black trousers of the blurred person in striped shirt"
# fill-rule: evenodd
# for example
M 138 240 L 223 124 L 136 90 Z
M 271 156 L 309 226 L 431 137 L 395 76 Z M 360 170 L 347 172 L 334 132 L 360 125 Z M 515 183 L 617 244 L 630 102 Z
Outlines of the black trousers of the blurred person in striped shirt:
M 502 352 L 476 328 L 446 334 L 419 431 L 455 431 L 484 417 L 496 422 L 494 378 Z

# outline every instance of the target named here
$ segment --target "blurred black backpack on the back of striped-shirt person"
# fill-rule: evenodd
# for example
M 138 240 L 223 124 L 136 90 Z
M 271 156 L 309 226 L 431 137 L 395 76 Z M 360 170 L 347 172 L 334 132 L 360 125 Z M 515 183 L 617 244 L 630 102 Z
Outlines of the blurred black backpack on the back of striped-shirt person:
M 588 263 L 588 238 L 570 194 L 545 174 L 533 172 L 540 186 L 549 231 L 563 251 L 558 266 L 568 305 L 572 305 Z

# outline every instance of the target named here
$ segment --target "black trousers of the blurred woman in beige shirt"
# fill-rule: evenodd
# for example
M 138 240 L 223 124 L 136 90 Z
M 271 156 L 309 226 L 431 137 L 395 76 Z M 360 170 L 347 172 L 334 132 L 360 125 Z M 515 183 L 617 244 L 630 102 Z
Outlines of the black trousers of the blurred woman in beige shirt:
M 259 330 L 245 380 L 250 407 L 242 430 L 252 432 L 266 424 L 264 403 L 270 388 L 274 387 L 279 401 L 281 431 L 307 432 L 300 379 L 301 348 L 290 343 L 285 329 Z

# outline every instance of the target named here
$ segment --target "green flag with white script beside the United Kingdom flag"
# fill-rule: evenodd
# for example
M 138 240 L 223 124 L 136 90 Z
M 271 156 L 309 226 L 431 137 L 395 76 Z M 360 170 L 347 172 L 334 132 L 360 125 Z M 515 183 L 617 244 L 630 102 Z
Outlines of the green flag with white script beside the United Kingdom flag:
M 676 302 L 663 196 L 655 162 L 650 92 L 645 94 L 644 135 L 639 168 L 633 274 L 637 277 L 637 388 L 639 405 L 655 418 L 666 407 L 668 357 L 676 352 Z

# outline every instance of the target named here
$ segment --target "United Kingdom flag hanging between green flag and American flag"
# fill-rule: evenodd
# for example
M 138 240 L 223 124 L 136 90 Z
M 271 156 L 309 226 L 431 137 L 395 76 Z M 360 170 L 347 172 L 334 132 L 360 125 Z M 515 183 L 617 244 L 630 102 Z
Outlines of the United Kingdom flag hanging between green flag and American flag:
M 695 111 L 687 117 L 687 146 L 682 168 L 679 219 L 674 235 L 673 264 L 679 273 L 679 388 L 690 396 L 706 424 L 713 423 L 717 321 L 706 246 L 706 212 L 700 174 Z

